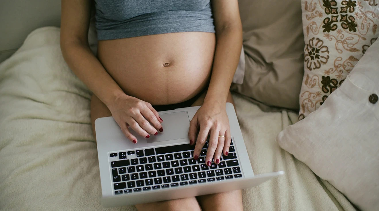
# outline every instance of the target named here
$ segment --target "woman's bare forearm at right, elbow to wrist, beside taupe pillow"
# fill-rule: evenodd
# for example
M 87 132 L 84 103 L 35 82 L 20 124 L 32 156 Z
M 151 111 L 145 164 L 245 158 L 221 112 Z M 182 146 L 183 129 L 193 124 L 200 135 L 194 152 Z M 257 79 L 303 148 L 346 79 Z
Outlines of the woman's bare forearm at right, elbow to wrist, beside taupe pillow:
M 226 104 L 230 85 L 240 60 L 242 29 L 229 27 L 216 33 L 211 79 L 204 102 Z

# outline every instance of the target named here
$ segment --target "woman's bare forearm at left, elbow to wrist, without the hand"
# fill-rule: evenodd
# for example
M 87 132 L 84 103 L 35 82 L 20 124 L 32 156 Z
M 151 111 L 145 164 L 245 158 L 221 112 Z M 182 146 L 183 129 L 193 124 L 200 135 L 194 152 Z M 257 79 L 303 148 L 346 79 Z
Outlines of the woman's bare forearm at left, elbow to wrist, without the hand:
M 124 91 L 106 72 L 88 46 L 62 44 L 63 57 L 75 75 L 108 107 Z

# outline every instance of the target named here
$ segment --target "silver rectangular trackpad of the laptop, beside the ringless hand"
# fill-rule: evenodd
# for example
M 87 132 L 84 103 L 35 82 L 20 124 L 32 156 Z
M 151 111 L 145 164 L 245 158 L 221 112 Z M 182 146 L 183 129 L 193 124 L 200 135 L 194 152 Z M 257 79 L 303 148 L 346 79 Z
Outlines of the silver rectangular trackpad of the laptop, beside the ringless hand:
M 162 142 L 176 139 L 188 139 L 189 117 L 188 112 L 173 112 L 160 114 L 163 119 L 163 132 L 158 135 L 150 135 L 147 143 Z

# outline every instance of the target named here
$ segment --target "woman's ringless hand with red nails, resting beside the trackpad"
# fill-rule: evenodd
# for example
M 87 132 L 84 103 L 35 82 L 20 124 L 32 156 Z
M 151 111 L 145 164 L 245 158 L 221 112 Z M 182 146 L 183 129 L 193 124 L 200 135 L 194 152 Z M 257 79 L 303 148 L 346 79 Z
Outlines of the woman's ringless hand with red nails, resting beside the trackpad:
M 133 143 L 137 143 L 138 140 L 130 133 L 129 126 L 145 138 L 149 138 L 150 134 L 158 135 L 158 131 L 163 131 L 161 125 L 163 120 L 148 102 L 122 94 L 108 106 L 108 109 L 124 135 Z

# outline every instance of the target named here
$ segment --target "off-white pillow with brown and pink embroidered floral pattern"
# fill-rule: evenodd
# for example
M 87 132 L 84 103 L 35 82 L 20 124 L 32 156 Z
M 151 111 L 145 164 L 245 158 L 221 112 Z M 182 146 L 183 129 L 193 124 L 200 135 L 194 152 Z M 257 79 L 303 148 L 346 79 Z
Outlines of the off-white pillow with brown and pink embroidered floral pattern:
M 301 0 L 306 46 L 299 120 L 340 87 L 379 36 L 378 4 L 377 0 Z

